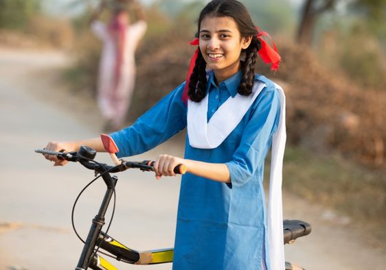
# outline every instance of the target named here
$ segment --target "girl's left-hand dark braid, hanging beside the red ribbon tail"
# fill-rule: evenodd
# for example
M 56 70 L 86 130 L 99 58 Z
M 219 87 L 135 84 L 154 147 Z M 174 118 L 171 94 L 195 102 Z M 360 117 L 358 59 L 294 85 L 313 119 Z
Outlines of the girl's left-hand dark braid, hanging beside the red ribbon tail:
M 196 64 L 192 75 L 190 75 L 188 90 L 188 95 L 192 101 L 200 102 L 205 97 L 207 88 L 207 74 L 205 68 L 206 62 L 201 54 L 201 51 L 198 50 Z

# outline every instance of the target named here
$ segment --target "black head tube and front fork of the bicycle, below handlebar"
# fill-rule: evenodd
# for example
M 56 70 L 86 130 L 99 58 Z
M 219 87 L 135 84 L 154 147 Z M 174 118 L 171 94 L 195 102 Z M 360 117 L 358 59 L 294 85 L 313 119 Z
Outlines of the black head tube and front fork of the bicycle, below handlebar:
M 102 174 L 107 190 L 104 194 L 104 199 L 99 212 L 91 224 L 91 228 L 89 230 L 89 234 L 87 235 L 86 243 L 84 243 L 82 254 L 80 254 L 76 270 L 86 270 L 89 267 L 89 262 L 91 260 L 91 256 L 93 255 L 95 244 L 98 241 L 98 237 L 104 225 L 104 215 L 106 214 L 107 208 L 109 208 L 111 197 L 113 196 L 114 188 L 117 184 L 117 177 L 111 177 L 110 173 L 104 173 L 105 171 L 106 168 L 101 164 L 100 171 L 98 170 L 97 172 Z

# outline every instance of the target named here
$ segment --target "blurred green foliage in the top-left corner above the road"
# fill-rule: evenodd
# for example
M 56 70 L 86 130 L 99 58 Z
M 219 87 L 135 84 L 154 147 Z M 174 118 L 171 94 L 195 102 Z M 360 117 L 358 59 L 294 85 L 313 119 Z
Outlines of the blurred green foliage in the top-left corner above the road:
M 0 0 L 0 28 L 25 29 L 32 15 L 41 10 L 41 0 Z

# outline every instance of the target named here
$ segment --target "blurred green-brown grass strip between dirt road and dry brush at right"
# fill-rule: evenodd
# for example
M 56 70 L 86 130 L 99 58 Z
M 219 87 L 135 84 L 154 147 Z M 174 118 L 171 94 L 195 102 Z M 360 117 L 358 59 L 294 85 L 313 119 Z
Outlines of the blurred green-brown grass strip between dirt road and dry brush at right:
M 293 146 L 286 147 L 283 170 L 284 189 L 347 215 L 356 225 L 386 240 L 384 172 L 365 169 L 334 154 L 313 154 Z

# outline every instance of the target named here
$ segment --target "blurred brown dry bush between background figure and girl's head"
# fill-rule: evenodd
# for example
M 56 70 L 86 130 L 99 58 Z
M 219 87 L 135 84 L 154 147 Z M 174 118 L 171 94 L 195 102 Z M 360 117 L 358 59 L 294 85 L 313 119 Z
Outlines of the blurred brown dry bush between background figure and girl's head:
M 137 51 L 137 80 L 128 120 L 146 112 L 161 97 L 183 83 L 196 48 L 188 45 L 188 33 L 170 29 L 141 42 Z

